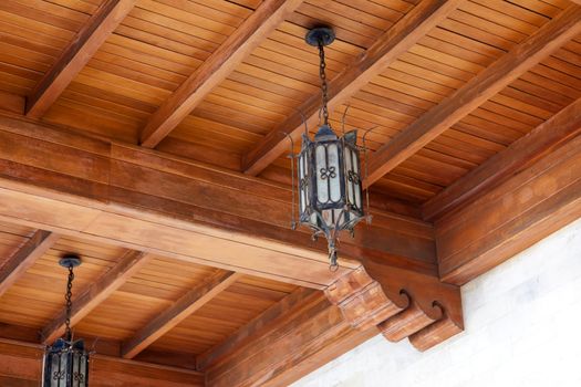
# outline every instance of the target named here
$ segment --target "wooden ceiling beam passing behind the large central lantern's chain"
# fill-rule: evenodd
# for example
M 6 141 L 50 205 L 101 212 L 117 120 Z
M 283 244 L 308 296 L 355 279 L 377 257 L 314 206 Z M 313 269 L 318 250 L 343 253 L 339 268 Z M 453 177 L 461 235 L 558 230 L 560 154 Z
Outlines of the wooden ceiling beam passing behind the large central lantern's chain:
M 380 36 L 369 50 L 361 54 L 353 64 L 331 80 L 329 84 L 329 108 L 333 109 L 340 106 L 374 76 L 385 71 L 397 56 L 405 53 L 427 31 L 446 19 L 460 2 L 458 0 L 424 0 L 415 6 L 413 10 Z M 308 117 L 307 122 L 310 127 L 315 125 L 319 119 L 320 105 L 321 94 L 319 93 L 299 107 L 299 111 Z M 260 174 L 288 149 L 287 138 L 283 134 L 291 135 L 295 140 L 300 137 L 303 132 L 301 113 L 289 116 L 245 156 L 242 169 L 246 174 L 252 176 Z

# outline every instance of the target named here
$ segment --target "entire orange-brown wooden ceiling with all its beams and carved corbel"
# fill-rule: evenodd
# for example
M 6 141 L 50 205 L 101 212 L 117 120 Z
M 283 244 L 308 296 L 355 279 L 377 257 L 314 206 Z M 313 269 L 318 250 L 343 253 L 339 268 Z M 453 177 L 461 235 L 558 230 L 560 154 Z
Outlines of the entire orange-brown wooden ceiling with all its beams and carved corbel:
M 321 24 L 332 125 L 373 129 L 338 273 L 289 227 Z M 375 326 L 427 349 L 458 285 L 579 216 L 580 112 L 577 0 L 2 0 L 0 338 L 62 334 L 76 252 L 75 333 L 139 378 L 284 385 Z

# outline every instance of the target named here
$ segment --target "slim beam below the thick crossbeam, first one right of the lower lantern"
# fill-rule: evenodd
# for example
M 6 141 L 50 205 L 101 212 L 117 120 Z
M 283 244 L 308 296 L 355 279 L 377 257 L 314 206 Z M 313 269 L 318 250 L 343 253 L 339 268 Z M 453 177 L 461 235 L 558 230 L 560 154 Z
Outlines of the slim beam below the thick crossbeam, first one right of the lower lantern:
M 169 308 L 144 326 L 123 344 L 122 356 L 133 358 L 156 339 L 172 331 L 194 312 L 211 301 L 216 295 L 235 283 L 241 274 L 217 271 L 206 283 L 184 294 Z

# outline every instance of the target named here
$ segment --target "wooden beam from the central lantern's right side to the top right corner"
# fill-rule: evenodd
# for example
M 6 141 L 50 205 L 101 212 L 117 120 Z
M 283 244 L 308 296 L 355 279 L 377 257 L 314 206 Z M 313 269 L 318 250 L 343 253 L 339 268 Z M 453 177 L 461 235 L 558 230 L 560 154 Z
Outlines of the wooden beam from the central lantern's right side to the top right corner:
M 377 149 L 364 185 L 377 181 L 580 32 L 581 7 L 570 6 Z

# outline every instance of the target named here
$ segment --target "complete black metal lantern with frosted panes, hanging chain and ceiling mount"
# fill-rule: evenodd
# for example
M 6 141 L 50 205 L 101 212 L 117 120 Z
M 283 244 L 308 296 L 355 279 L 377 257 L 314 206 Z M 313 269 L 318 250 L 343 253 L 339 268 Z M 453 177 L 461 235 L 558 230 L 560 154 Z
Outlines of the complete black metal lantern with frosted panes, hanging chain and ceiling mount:
M 313 238 L 326 238 L 331 270 L 336 270 L 339 232 L 353 234 L 353 228 L 364 218 L 357 133 L 338 137 L 329 124 L 324 46 L 333 42 L 333 30 L 315 28 L 305 40 L 319 48 L 322 123 L 312 140 L 307 133 L 302 136 L 297 168 L 299 221 L 313 230 Z

